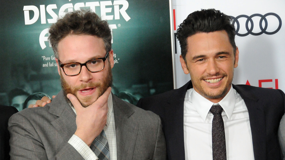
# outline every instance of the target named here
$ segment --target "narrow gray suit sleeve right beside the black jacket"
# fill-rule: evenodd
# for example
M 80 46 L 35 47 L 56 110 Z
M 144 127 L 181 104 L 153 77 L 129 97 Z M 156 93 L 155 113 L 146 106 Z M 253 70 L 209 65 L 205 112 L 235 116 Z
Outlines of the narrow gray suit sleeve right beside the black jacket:
M 162 124 L 160 117 L 158 115 L 157 117 L 158 117 L 158 132 L 156 136 L 156 144 L 155 144 L 153 159 L 164 160 L 166 159 L 166 142 L 162 131 Z

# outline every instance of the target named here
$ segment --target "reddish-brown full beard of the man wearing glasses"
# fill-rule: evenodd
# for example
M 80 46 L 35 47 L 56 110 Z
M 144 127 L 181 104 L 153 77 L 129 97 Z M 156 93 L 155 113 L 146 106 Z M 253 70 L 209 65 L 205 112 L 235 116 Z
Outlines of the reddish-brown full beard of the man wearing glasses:
M 78 99 L 78 101 L 80 102 L 80 104 L 82 105 L 82 107 L 88 107 L 89 105 L 93 104 L 101 95 L 103 95 L 103 93 L 107 90 L 108 87 L 112 86 L 113 83 L 113 76 L 112 76 L 112 71 L 111 71 L 111 65 L 109 63 L 109 67 L 108 67 L 108 72 L 107 72 L 107 76 L 105 78 L 103 78 L 102 82 L 89 82 L 89 83 L 85 83 L 85 84 L 81 84 L 79 86 L 70 86 L 66 80 L 64 80 L 62 73 L 60 71 L 60 81 L 61 81 L 61 87 L 64 93 L 64 97 L 66 99 L 66 101 L 72 105 L 71 101 L 66 97 L 66 95 L 68 93 L 71 93 L 73 95 L 76 96 L 76 98 L 78 99 L 77 96 L 77 92 L 81 89 L 84 88 L 97 88 L 98 90 L 98 97 L 96 99 L 92 99 L 92 96 L 86 96 L 83 99 Z M 73 106 L 73 105 L 72 105 Z

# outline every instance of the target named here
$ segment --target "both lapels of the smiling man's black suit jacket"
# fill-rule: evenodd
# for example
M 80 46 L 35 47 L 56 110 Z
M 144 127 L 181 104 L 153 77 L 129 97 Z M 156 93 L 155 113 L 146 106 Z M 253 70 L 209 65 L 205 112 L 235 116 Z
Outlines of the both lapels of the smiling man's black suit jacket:
M 166 143 L 168 147 L 169 159 L 185 159 L 184 150 L 184 127 L 183 127 L 183 113 L 184 113 L 184 97 L 188 89 L 193 88 L 191 80 L 181 88 L 175 90 L 165 106 L 165 115 L 168 122 L 165 127 L 167 133 Z M 242 87 L 233 85 L 233 88 L 241 95 L 247 109 L 249 111 L 249 121 L 251 126 L 251 134 L 253 139 L 253 152 L 255 159 L 265 159 L 265 117 L 262 105 L 258 102 L 258 98 L 251 92 L 245 91 Z M 170 152 L 171 151 L 171 152 Z

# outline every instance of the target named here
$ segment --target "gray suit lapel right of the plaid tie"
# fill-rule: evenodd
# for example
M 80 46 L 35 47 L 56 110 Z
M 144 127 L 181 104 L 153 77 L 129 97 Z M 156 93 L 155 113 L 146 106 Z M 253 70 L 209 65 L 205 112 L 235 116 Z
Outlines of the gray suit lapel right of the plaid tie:
M 121 99 L 112 94 L 116 128 L 117 159 L 132 159 L 139 124 L 131 116 L 134 111 Z

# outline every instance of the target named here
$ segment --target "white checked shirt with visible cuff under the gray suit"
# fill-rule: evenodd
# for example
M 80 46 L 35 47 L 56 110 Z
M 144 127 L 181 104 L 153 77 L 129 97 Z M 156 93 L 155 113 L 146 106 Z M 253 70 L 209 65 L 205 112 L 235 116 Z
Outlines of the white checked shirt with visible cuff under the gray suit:
M 76 114 L 74 107 L 72 107 L 72 109 Z M 110 158 L 112 160 L 117 160 L 116 130 L 115 130 L 115 119 L 114 119 L 114 111 L 113 111 L 113 99 L 112 99 L 111 93 L 108 97 L 107 123 L 103 130 L 107 136 L 109 150 L 110 150 Z M 78 151 L 78 153 L 82 155 L 84 159 L 86 160 L 97 160 L 98 159 L 98 157 L 90 149 L 90 147 L 75 134 L 69 139 L 68 143 L 72 145 Z

